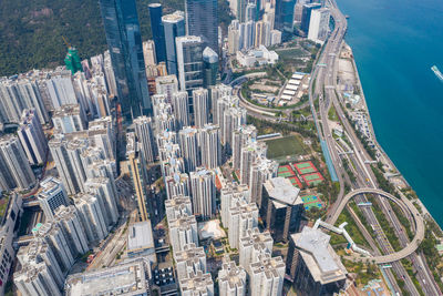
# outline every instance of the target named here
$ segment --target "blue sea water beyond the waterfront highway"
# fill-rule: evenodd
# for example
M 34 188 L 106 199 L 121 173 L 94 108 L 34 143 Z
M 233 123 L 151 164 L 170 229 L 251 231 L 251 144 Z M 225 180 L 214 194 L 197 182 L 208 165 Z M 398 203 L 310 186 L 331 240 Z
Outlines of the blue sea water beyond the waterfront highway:
M 443 226 L 443 1 L 337 3 L 377 139 Z

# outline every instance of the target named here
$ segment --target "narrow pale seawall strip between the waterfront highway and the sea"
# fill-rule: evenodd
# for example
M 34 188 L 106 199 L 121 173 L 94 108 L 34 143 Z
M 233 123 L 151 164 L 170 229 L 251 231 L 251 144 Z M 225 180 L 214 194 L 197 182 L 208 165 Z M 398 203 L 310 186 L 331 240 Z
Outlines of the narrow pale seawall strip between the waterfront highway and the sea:
M 360 96 L 361 96 L 361 100 L 362 100 L 362 102 L 363 102 L 363 104 L 364 104 L 364 108 L 365 108 L 365 110 L 367 110 L 367 112 L 368 112 L 368 123 L 369 123 L 370 131 L 371 131 L 371 134 L 372 134 L 372 140 L 373 140 L 373 142 L 374 142 L 374 144 L 375 144 L 375 146 L 377 146 L 377 150 L 382 154 L 382 156 L 384 157 L 384 160 L 389 163 L 389 166 L 390 166 L 391 169 L 395 170 L 395 171 L 399 173 L 399 175 L 398 175 L 396 177 L 401 178 L 401 181 L 402 181 L 406 186 L 409 186 L 411 190 L 413 190 L 413 188 L 411 187 L 410 183 L 408 182 L 408 180 L 403 176 L 403 174 L 400 172 L 400 170 L 395 166 L 394 162 L 389 157 L 388 153 L 383 150 L 383 147 L 381 146 L 381 144 L 377 141 L 375 131 L 374 131 L 374 127 L 373 127 L 373 124 L 372 124 L 371 114 L 370 114 L 370 112 L 369 112 L 368 102 L 367 102 L 367 99 L 365 99 L 365 96 L 364 96 L 363 85 L 362 85 L 361 80 L 360 80 L 359 70 L 358 70 L 358 67 L 357 67 L 357 63 L 356 63 L 356 59 L 354 59 L 354 55 L 353 55 L 352 47 L 349 45 L 346 41 L 344 41 L 344 45 L 349 47 L 349 49 L 350 49 L 351 52 L 352 52 L 352 59 L 351 59 L 351 60 L 352 60 L 352 65 L 353 65 L 353 68 L 354 68 L 356 80 L 357 80 L 358 86 L 360 88 L 360 92 L 361 92 L 361 95 L 360 95 Z M 340 93 L 340 92 L 339 92 L 339 93 Z M 340 96 L 342 96 L 341 93 L 340 93 Z M 341 98 L 341 99 L 342 99 L 342 98 Z M 396 188 L 396 187 L 395 187 L 395 188 Z M 415 192 L 415 191 L 414 191 L 414 192 Z M 401 193 L 401 192 L 400 192 L 400 193 Z M 402 193 L 401 193 L 401 194 L 402 194 Z M 424 215 L 426 218 L 432 218 L 432 221 L 433 221 L 436 225 L 439 225 L 439 223 L 434 220 L 434 217 L 433 217 L 433 216 L 431 215 L 431 213 L 427 211 L 426 206 L 425 206 L 425 205 L 423 204 L 423 202 L 420 200 L 420 196 L 419 196 L 419 195 L 416 195 L 416 196 L 418 196 L 418 198 L 412 200 L 412 202 L 415 202 L 415 203 L 418 203 L 418 204 L 420 205 L 421 210 L 423 211 L 423 214 L 422 214 L 422 215 Z M 439 227 L 442 229 L 442 227 L 441 227 L 440 225 L 439 225 Z

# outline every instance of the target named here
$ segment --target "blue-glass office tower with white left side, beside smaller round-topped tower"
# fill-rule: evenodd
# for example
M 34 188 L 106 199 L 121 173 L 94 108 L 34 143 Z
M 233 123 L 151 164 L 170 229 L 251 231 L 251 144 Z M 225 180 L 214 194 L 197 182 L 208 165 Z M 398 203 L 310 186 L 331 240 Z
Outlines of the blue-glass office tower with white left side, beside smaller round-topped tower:
M 203 86 L 203 42 L 200 37 L 185 35 L 176 38 L 177 69 L 181 91 L 190 91 Z

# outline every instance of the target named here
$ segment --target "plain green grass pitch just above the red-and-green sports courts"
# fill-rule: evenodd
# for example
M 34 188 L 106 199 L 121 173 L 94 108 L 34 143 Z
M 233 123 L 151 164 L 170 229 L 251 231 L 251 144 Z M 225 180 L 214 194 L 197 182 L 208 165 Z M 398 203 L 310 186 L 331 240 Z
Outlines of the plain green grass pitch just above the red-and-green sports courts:
M 306 154 L 303 144 L 295 135 L 269 140 L 266 141 L 266 144 L 268 145 L 269 159 Z

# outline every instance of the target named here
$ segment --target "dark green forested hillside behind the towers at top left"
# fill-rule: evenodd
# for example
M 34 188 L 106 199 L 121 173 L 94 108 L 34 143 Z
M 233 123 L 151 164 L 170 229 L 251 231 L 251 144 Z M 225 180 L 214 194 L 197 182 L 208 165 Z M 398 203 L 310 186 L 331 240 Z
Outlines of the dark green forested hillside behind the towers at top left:
M 150 2 L 154 1 L 137 0 L 144 40 L 151 37 Z M 155 2 L 163 3 L 164 13 L 184 10 L 184 0 Z M 226 0 L 219 0 L 219 16 L 226 29 L 230 21 Z M 82 59 L 106 50 L 99 1 L 0 0 L 0 76 L 63 64 L 63 35 Z

